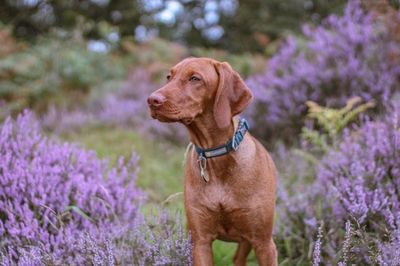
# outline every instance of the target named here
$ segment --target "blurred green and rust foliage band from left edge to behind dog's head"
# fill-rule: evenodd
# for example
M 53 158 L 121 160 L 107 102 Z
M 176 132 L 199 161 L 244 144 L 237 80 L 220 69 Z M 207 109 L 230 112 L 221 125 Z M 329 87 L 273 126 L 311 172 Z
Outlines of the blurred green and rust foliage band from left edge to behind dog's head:
M 104 35 L 112 30 L 99 26 Z M 49 105 L 73 109 L 101 94 L 118 89 L 128 71 L 146 68 L 154 81 L 164 81 L 168 69 L 190 55 L 228 61 L 243 76 L 260 71 L 265 62 L 251 54 L 233 55 L 221 50 L 187 49 L 162 39 L 141 45 L 129 38 L 119 44 L 104 42 L 109 51 L 88 49 L 82 29 L 54 31 L 34 44 L 17 41 L 10 28 L 0 26 L 0 120 L 26 107 L 46 112 Z M 6 106 L 4 107 L 4 102 Z

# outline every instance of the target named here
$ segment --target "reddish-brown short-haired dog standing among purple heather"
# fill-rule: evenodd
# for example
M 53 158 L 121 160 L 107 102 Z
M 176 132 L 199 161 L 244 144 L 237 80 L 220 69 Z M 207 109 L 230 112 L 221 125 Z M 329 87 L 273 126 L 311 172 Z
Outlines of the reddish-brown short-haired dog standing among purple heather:
M 263 146 L 244 134 L 243 121 L 233 118 L 251 101 L 250 90 L 229 64 L 209 58 L 185 59 L 167 79 L 148 104 L 153 118 L 183 123 L 196 147 L 185 164 L 194 264 L 213 265 L 212 242 L 220 239 L 239 243 L 235 265 L 246 264 L 252 247 L 259 265 L 277 265 L 272 239 L 275 166 Z M 238 131 L 243 139 L 236 138 Z M 232 139 L 237 140 L 235 149 L 225 145 Z M 204 149 L 215 147 L 219 150 L 208 155 L 217 156 L 204 158 Z

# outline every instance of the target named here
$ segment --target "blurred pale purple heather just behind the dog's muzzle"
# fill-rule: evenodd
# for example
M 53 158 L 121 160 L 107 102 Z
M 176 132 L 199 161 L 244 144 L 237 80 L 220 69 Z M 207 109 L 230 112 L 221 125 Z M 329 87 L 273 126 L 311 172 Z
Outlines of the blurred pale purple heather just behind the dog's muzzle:
M 187 134 L 182 125 L 160 123 L 149 115 L 147 97 L 160 86 L 151 80 L 148 71 L 136 70 L 119 89 L 95 99 L 86 108 L 70 112 L 49 109 L 43 117 L 43 125 L 58 132 L 87 124 L 113 125 L 135 128 L 149 137 L 185 141 Z

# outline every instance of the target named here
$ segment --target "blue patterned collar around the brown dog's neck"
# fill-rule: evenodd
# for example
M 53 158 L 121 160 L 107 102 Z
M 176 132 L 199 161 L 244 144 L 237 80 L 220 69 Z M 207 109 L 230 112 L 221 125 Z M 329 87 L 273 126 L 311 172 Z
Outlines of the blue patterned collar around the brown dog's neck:
M 249 130 L 249 124 L 246 119 L 240 118 L 238 128 L 226 144 L 218 146 L 216 148 L 203 149 L 197 145 L 194 145 L 197 154 L 200 159 L 208 159 L 225 155 L 231 151 L 236 151 L 239 148 L 240 143 L 243 141 L 244 135 Z

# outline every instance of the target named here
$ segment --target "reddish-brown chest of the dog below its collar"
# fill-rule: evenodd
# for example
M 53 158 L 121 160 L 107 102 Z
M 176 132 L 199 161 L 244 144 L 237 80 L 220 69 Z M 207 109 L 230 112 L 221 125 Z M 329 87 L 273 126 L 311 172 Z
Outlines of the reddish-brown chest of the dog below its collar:
M 201 178 L 195 161 L 185 173 L 188 215 L 195 224 L 208 225 L 225 241 L 240 241 L 246 235 L 254 217 L 260 216 L 259 198 L 265 194 L 264 185 L 255 182 L 258 173 L 253 170 L 253 162 L 241 157 L 231 163 L 208 162 L 209 182 Z

